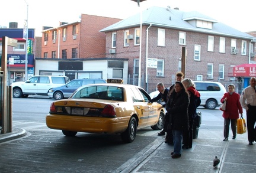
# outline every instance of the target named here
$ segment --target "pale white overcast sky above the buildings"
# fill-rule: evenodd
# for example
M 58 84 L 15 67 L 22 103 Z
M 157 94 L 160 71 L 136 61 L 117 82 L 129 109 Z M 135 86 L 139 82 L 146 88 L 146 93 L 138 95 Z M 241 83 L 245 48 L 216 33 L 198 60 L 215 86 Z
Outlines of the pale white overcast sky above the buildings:
M 60 21 L 79 21 L 81 14 L 124 19 L 151 6 L 198 11 L 239 31 L 256 31 L 255 0 L 147 0 L 140 2 L 140 8 L 131 0 L 1 0 L 0 26 L 9 27 L 9 22 L 18 22 L 18 28 L 23 28 L 27 4 L 28 28 L 35 28 L 39 37 L 43 26 L 57 27 Z

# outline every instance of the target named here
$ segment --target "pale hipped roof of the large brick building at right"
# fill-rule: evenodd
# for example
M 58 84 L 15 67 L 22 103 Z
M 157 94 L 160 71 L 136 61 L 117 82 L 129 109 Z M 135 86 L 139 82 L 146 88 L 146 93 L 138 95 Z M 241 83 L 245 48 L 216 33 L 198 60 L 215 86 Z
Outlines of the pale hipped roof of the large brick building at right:
M 198 28 L 193 25 L 191 20 L 199 19 L 202 21 L 213 22 L 212 30 L 206 28 Z M 142 25 L 151 25 L 162 28 L 172 28 L 183 31 L 203 32 L 214 35 L 223 35 L 235 38 L 244 38 L 254 40 L 256 37 L 249 35 L 245 32 L 238 31 L 235 28 L 229 27 L 216 19 L 200 14 L 199 12 L 184 12 L 179 9 L 163 8 L 152 6 L 142 12 Z M 100 32 L 111 32 L 125 28 L 132 28 L 140 26 L 140 13 L 133 15 L 129 18 L 123 19 L 116 24 L 110 25 Z

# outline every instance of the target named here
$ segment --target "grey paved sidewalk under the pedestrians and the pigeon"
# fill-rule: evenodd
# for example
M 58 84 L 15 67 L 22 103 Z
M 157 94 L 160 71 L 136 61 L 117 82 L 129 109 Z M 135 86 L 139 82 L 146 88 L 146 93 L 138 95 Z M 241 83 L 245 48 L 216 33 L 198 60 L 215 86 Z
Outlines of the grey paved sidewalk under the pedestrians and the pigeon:
M 255 172 L 256 143 L 248 145 L 247 133 L 236 137 L 222 141 L 222 131 L 199 128 L 199 138 L 193 139 L 193 147 L 183 149 L 177 159 L 171 158 L 173 146 L 164 143 L 163 138 L 138 167 L 122 172 Z M 213 167 L 215 156 L 220 159 L 217 167 Z

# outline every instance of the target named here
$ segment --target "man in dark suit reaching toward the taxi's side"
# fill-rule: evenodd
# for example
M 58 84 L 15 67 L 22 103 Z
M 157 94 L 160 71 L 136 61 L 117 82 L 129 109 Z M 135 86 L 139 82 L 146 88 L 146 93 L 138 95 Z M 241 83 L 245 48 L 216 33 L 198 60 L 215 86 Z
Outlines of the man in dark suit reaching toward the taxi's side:
M 164 104 L 162 105 L 162 107 L 165 107 L 165 103 L 167 103 L 167 95 L 169 92 L 169 89 L 167 89 L 163 83 L 158 83 L 156 84 L 156 88 L 159 91 L 158 96 L 153 97 L 153 99 L 149 100 L 149 103 L 152 102 L 157 102 L 159 99 L 161 99 L 162 102 L 164 102 Z M 165 131 L 162 130 L 162 132 L 158 133 L 159 136 L 165 135 Z

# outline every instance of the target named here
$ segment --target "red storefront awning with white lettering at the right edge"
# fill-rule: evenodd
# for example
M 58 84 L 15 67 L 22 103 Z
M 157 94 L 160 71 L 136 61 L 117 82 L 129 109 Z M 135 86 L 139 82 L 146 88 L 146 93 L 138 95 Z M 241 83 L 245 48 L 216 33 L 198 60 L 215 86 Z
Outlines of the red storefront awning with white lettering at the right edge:
M 229 77 L 255 77 L 256 64 L 241 64 L 235 67 L 229 67 Z

